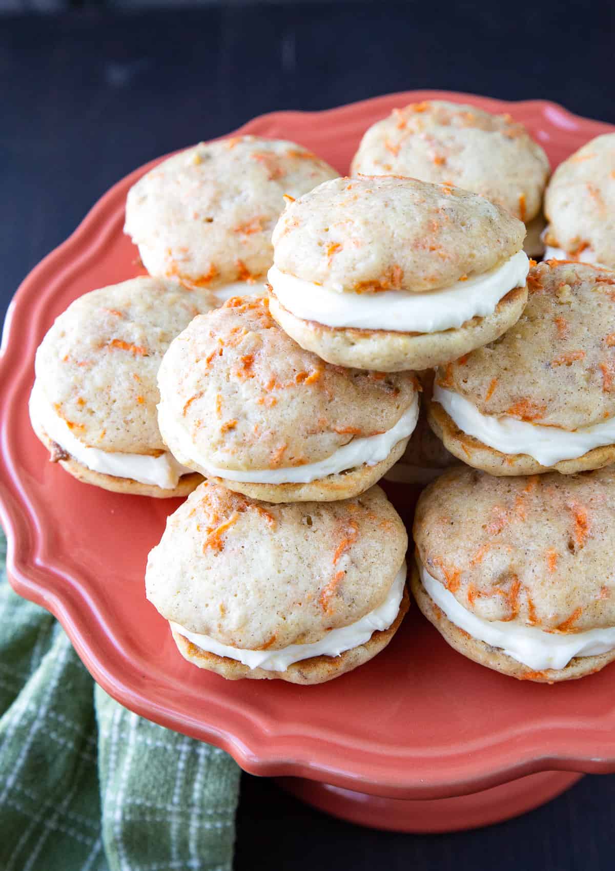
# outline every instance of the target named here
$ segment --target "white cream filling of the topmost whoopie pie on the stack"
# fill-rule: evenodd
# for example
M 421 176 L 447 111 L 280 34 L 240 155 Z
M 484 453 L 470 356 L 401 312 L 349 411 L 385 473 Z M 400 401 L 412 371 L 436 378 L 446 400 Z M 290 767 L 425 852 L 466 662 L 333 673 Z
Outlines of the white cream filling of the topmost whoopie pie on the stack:
M 317 321 L 326 327 L 436 333 L 493 314 L 503 296 L 524 286 L 529 270 L 527 254 L 519 251 L 488 273 L 426 293 L 355 294 L 344 292 L 341 286 L 325 287 L 295 278 L 277 267 L 271 267 L 267 277 L 280 305 L 302 321 Z

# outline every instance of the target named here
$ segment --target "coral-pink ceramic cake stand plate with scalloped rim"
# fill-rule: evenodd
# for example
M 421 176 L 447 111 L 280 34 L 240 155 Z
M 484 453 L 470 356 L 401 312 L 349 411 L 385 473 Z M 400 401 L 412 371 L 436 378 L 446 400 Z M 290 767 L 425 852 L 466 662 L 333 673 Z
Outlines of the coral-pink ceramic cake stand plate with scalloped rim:
M 346 172 L 368 125 L 395 105 L 436 97 L 509 111 L 553 165 L 612 129 L 543 101 L 421 91 L 314 114 L 276 112 L 240 132 L 294 139 Z M 0 496 L 15 589 L 57 616 L 94 678 L 125 706 L 224 747 L 253 773 L 423 800 L 546 769 L 615 770 L 615 667 L 567 685 L 519 683 L 456 654 L 416 607 L 385 652 L 321 686 L 225 681 L 179 656 L 143 583 L 147 552 L 178 501 L 79 484 L 47 462 L 27 413 L 34 353 L 57 314 L 80 294 L 138 273 L 122 226 L 126 192 L 147 168 L 105 194 L 10 307 Z M 409 517 L 409 491 L 388 490 Z

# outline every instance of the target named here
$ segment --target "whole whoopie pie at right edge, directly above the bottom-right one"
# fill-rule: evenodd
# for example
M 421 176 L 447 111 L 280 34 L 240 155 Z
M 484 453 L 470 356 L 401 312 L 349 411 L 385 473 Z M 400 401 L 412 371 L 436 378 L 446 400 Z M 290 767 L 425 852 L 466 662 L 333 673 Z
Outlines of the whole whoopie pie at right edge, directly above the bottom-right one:
M 615 462 L 615 272 L 548 260 L 500 339 L 440 368 L 429 422 L 491 475 Z

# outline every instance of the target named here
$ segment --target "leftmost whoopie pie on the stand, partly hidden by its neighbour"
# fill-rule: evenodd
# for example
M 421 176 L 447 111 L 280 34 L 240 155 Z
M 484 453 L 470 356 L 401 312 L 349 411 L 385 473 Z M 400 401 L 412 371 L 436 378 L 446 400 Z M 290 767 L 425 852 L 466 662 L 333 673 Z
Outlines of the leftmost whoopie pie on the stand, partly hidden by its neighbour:
M 30 421 L 51 461 L 80 481 L 145 496 L 184 496 L 201 481 L 158 429 L 156 375 L 172 338 L 215 301 L 142 277 L 84 294 L 37 350 Z

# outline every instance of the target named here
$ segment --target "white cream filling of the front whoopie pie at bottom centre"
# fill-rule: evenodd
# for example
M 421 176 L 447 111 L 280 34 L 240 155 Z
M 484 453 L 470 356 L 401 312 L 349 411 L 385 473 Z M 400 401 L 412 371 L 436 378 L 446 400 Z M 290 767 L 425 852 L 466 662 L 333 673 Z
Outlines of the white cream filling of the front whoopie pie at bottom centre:
M 215 653 L 217 656 L 236 659 L 247 665 L 248 668 L 262 668 L 267 672 L 285 672 L 289 665 L 301 662 L 301 659 L 309 659 L 314 656 L 339 656 L 344 651 L 353 647 L 364 645 L 375 631 L 389 629 L 395 623 L 402 603 L 403 588 L 406 584 L 406 564 L 397 572 L 387 598 L 378 605 L 374 611 L 370 611 L 365 617 L 357 620 L 349 626 L 341 626 L 340 629 L 332 629 L 320 641 L 311 645 L 288 645 L 281 650 L 248 651 L 239 647 L 221 645 L 208 635 L 199 635 L 190 632 L 177 623 L 169 621 L 172 629 L 192 641 L 201 650 Z

